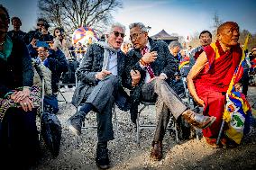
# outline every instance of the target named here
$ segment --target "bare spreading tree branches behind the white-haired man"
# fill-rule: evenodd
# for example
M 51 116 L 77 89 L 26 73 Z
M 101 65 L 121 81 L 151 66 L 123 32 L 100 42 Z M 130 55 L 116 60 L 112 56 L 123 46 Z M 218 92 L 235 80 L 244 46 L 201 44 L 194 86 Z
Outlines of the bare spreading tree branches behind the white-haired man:
M 56 27 L 72 32 L 88 26 L 102 33 L 112 22 L 112 12 L 122 8 L 119 0 L 39 0 L 40 15 Z

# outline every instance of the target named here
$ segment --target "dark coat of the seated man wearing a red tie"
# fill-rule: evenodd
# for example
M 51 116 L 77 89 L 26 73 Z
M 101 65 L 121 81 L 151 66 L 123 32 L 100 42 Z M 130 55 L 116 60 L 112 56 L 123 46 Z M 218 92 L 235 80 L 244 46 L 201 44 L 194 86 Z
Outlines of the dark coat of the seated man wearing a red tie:
M 155 62 L 151 63 L 151 68 L 155 76 L 160 76 L 161 73 L 165 73 L 168 76 L 167 81 L 174 77 L 174 73 L 178 70 L 178 65 L 174 60 L 174 57 L 169 53 L 168 45 L 163 41 L 154 41 L 149 38 L 151 45 L 151 51 L 157 51 L 158 56 Z M 127 54 L 128 66 L 126 67 L 127 82 L 126 85 L 131 89 L 131 99 L 132 99 L 132 121 L 134 122 L 137 117 L 138 105 L 141 102 L 142 96 L 142 85 L 144 84 L 144 79 L 146 76 L 146 71 L 140 67 L 139 60 L 142 58 L 141 51 L 139 49 L 131 49 Z M 130 76 L 131 70 L 139 70 L 141 73 L 141 81 L 139 85 L 132 86 L 132 77 Z

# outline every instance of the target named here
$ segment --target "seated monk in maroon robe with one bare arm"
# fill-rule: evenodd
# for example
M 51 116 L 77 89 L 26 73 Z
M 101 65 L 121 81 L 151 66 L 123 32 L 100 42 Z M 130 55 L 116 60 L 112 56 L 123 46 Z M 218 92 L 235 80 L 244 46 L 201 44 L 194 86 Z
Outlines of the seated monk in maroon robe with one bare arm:
M 217 29 L 217 40 L 204 47 L 204 52 L 187 75 L 189 92 L 204 107 L 204 115 L 216 117 L 212 126 L 203 130 L 206 142 L 213 148 L 221 147 L 215 142 L 224 114 L 225 93 L 242 58 L 239 35 L 236 22 L 221 24 Z

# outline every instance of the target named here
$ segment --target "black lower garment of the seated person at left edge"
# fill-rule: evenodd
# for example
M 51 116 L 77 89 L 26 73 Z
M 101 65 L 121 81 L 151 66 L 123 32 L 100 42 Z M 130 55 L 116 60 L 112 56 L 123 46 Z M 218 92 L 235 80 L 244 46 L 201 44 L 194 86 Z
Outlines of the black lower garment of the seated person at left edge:
M 35 163 L 39 149 L 36 111 L 9 108 L 0 125 L 0 167 L 26 169 Z M 11 164 L 8 164 L 11 163 Z M 4 165 L 5 164 L 5 165 Z

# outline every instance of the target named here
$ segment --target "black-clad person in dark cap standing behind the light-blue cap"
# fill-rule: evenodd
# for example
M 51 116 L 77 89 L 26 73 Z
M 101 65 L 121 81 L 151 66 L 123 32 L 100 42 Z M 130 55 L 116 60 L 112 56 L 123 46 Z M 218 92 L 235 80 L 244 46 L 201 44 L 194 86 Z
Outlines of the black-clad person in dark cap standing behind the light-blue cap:
M 47 41 L 50 42 L 53 40 L 53 36 L 50 35 L 48 31 L 50 25 L 49 23 L 43 19 L 39 18 L 37 20 L 37 29 L 35 31 L 29 31 L 25 36 L 25 43 L 28 45 L 30 43 L 34 43 L 36 40 Z

